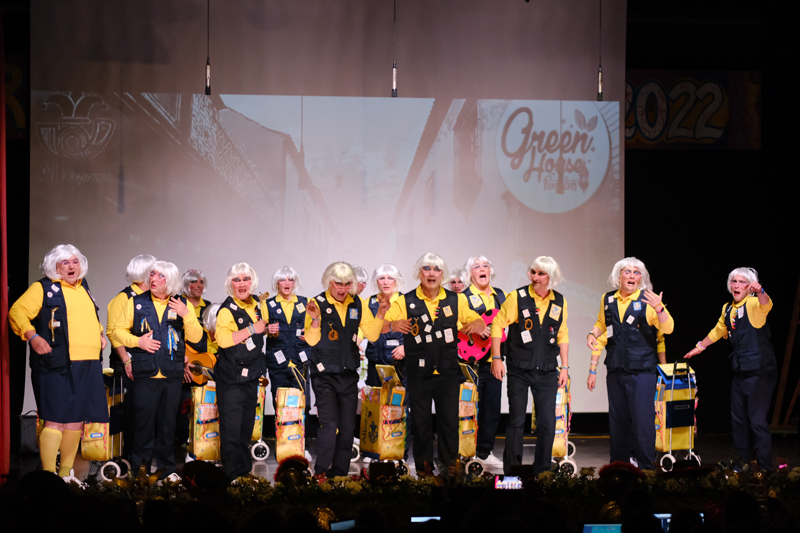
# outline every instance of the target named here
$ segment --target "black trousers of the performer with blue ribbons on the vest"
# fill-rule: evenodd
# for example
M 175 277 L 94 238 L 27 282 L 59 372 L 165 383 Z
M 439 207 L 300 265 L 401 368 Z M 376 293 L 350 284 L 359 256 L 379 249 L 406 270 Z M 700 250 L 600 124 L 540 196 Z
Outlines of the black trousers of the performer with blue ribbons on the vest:
M 134 473 L 144 460 L 149 468 L 155 459 L 158 468 L 166 468 L 162 478 L 175 472 L 175 420 L 181 401 L 182 377 L 138 378 L 136 395 L 136 431 L 131 455 Z

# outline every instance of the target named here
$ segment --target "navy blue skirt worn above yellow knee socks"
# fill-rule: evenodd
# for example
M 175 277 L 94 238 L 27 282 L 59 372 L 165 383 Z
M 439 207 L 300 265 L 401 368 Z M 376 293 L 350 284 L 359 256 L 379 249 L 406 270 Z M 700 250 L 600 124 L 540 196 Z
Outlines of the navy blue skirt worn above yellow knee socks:
M 108 422 L 100 361 L 72 361 L 64 374 L 31 371 L 39 418 L 57 424 Z

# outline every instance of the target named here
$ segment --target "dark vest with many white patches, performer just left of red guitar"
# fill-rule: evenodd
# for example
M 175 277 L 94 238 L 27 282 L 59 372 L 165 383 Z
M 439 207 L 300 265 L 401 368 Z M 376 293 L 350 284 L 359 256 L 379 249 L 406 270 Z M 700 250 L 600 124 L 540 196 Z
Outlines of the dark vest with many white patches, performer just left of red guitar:
M 406 313 L 412 327 L 411 333 L 403 337 L 409 374 L 426 376 L 437 370 L 442 375 L 461 375 L 458 366 L 458 294 L 447 289 L 444 292 L 444 298 L 439 300 L 436 321 L 432 320 L 434 317 L 428 313 L 425 302 L 417 297 L 416 289 L 405 294 Z

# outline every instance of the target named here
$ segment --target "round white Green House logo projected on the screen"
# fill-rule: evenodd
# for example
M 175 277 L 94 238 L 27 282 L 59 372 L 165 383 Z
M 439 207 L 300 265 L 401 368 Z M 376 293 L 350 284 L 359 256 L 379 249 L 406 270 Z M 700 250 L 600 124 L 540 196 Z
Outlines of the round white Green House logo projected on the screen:
M 512 101 L 496 138 L 497 166 L 511 193 L 543 213 L 586 202 L 611 159 L 607 118 L 594 102 Z

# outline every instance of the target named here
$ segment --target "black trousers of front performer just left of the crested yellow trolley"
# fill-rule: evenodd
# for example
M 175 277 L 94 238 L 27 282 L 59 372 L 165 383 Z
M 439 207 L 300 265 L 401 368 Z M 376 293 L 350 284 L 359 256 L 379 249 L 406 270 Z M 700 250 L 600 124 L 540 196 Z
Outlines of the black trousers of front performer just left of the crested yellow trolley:
M 346 476 L 353 449 L 358 405 L 358 373 L 352 370 L 311 375 L 317 399 L 319 432 L 314 474 Z

